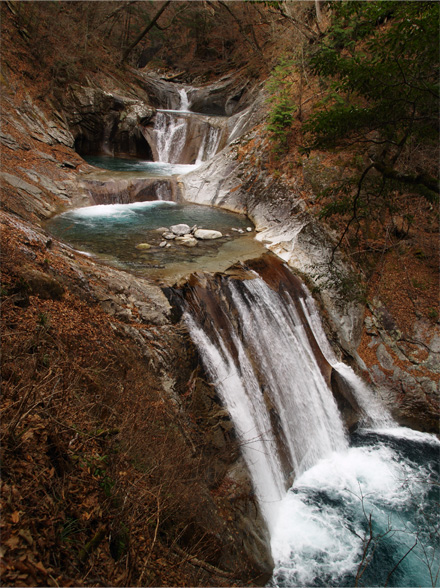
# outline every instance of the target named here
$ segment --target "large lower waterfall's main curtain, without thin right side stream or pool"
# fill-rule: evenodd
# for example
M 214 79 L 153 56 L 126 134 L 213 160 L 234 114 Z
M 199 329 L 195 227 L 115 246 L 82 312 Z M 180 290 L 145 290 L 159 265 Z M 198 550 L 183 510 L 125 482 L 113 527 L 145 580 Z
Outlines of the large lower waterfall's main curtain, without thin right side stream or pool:
M 348 446 L 306 294 L 288 270 L 278 270 L 294 296 L 250 270 L 244 280 L 193 285 L 184 315 L 234 421 L 269 529 L 293 477 Z

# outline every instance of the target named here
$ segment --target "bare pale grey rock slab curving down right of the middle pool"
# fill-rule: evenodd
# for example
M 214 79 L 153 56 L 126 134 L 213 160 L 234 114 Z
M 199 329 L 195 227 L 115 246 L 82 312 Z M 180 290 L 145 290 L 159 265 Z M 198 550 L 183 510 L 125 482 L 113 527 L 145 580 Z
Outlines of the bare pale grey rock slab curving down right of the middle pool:
M 342 284 L 327 281 L 332 241 L 316 220 L 307 213 L 299 194 L 246 162 L 239 162 L 234 145 L 213 160 L 183 176 L 185 199 L 197 204 L 219 206 L 247 214 L 258 231 L 257 238 L 286 261 L 306 274 L 315 286 L 330 314 L 341 344 L 356 357 L 362 329 L 362 306 L 338 292 Z M 350 277 L 350 268 L 336 256 L 337 272 Z M 337 273 L 336 272 L 336 273 Z

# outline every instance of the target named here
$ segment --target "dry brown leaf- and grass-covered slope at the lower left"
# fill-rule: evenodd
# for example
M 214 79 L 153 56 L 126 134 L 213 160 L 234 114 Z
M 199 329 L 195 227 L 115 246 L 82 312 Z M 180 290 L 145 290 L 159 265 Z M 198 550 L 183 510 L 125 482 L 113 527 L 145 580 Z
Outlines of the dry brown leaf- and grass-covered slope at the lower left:
M 221 549 L 202 530 L 213 505 L 178 410 L 84 293 L 33 292 L 29 268 L 48 284 L 49 267 L 68 271 L 20 238 L 2 231 L 3 581 L 209 585 L 173 550 L 215 564 Z

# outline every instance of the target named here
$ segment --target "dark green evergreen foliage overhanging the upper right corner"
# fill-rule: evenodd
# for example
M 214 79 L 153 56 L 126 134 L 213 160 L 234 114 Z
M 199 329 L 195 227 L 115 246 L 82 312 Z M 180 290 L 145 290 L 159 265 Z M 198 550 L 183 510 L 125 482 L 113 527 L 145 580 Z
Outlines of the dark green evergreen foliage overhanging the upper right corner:
M 354 147 L 364 162 L 351 178 L 357 194 L 375 179 L 437 198 L 439 8 L 331 3 L 332 25 L 311 56 L 327 91 L 305 125 L 305 152 Z

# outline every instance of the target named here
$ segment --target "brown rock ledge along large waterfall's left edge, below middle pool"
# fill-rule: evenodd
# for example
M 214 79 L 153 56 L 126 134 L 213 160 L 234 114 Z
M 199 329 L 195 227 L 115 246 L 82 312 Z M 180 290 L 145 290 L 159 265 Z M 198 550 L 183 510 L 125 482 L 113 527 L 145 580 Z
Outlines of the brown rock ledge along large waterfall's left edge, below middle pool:
M 181 430 L 181 444 L 192 448 L 193 458 L 204 471 L 200 509 L 192 513 L 189 527 L 186 522 L 183 547 L 191 549 L 193 536 L 194 541 L 211 538 L 216 546 L 212 563 L 219 573 L 235 583 L 252 579 L 263 585 L 273 562 L 265 523 L 253 502 L 249 473 L 229 417 L 206 383 L 188 335 L 174 326 L 172 308 L 162 290 L 148 280 L 97 264 L 55 240 L 48 249 L 47 235 L 41 229 L 4 212 L 0 217 L 3 237 L 9 239 L 13 234 L 20 255 L 27 259 L 17 268 L 25 287 L 23 295 L 58 303 L 69 292 L 70 300 L 79 297 L 98 305 L 108 315 L 116 340 L 123 342 L 121 350 L 135 345 L 151 373 L 161 379 L 162 404 L 168 406 L 172 421 Z M 44 255 L 47 269 L 35 269 Z M 16 303 L 29 304 L 19 298 Z M 55 307 L 52 314 L 55 320 Z M 191 424 L 195 422 L 200 425 Z M 211 573 L 215 575 L 215 570 Z

